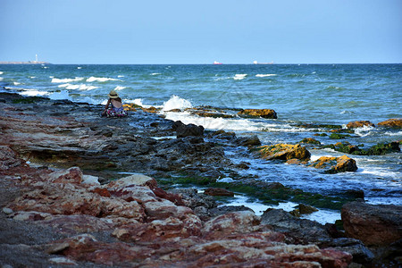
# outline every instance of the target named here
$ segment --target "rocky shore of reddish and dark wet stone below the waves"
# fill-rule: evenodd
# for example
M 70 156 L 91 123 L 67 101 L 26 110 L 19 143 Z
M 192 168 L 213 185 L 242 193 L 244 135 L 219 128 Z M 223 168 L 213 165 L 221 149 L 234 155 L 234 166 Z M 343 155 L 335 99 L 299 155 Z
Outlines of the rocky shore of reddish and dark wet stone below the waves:
M 137 111 L 128 118 L 107 119 L 99 117 L 100 106 L 0 94 L 0 264 L 400 264 L 400 206 L 367 205 L 356 193 L 317 197 L 281 183 L 242 178 L 238 171 L 247 163 L 231 163 L 224 154 L 224 147 L 246 147 L 266 159 L 302 163 L 309 158 L 305 147 L 261 147 L 256 137 L 205 131 L 131 109 Z M 331 163 L 328 171 L 342 172 L 342 162 L 355 168 L 346 157 L 314 164 Z M 217 180 L 228 173 L 234 181 Z M 192 185 L 209 188 L 199 193 Z M 218 206 L 220 197 L 234 191 L 300 205 L 292 214 L 270 209 L 262 216 L 244 206 Z M 316 204 L 343 205 L 341 226 L 297 217 Z

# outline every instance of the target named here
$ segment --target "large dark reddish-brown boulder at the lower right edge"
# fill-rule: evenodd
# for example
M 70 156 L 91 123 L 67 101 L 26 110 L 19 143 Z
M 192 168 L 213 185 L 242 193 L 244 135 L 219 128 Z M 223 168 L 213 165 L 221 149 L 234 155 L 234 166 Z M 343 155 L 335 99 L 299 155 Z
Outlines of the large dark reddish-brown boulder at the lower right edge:
M 351 202 L 342 207 L 348 237 L 364 245 L 386 246 L 402 239 L 402 205 L 368 205 Z

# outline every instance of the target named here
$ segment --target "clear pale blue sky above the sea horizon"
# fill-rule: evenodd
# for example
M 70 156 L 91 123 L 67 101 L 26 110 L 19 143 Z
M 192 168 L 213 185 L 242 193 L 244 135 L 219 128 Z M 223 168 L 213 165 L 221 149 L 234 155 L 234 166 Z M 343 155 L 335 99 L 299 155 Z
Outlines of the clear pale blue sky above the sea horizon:
M 402 0 L 0 0 L 0 61 L 402 63 Z

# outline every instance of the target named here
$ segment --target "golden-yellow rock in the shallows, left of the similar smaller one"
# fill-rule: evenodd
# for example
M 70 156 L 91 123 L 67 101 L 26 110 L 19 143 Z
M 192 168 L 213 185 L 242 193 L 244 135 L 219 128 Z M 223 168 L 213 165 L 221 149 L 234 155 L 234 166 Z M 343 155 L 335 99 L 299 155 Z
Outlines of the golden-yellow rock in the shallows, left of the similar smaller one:
M 258 147 L 258 152 L 264 159 L 267 160 L 289 160 L 292 158 L 296 158 L 302 161 L 306 161 L 310 159 L 311 155 L 306 147 L 301 147 L 299 144 L 277 144 L 274 146 Z

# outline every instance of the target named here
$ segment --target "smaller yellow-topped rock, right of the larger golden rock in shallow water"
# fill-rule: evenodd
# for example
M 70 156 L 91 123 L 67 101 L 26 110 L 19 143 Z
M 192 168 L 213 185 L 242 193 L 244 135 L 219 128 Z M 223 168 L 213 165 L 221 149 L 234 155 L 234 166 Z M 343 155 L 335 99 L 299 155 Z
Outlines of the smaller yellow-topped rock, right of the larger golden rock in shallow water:
M 339 157 L 322 156 L 310 166 L 317 169 L 326 169 L 326 173 L 334 174 L 339 172 L 356 172 L 356 161 L 347 155 Z

